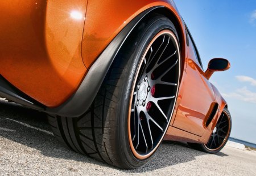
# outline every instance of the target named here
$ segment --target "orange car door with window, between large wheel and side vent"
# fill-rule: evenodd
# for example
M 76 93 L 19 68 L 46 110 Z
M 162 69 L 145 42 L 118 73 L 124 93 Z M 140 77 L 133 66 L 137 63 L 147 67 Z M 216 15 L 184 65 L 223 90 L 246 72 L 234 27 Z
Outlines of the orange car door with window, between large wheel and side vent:
M 213 89 L 204 76 L 203 66 L 191 35 L 188 33 L 188 54 L 183 81 L 180 85 L 180 104 L 172 126 L 202 136 L 205 118 L 215 100 Z

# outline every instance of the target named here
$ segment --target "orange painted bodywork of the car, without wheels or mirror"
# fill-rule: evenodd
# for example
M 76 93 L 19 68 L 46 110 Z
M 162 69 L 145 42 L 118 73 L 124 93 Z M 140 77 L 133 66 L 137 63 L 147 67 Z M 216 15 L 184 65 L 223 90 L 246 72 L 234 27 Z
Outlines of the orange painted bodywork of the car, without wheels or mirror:
M 208 81 L 192 45 L 187 45 L 193 41 L 173 1 L 4 1 L 0 74 L 47 109 L 58 108 L 79 89 L 118 33 L 154 7 L 174 21 L 181 46 L 179 96 L 165 139 L 207 143 L 226 102 Z M 216 103 L 218 113 L 206 126 Z

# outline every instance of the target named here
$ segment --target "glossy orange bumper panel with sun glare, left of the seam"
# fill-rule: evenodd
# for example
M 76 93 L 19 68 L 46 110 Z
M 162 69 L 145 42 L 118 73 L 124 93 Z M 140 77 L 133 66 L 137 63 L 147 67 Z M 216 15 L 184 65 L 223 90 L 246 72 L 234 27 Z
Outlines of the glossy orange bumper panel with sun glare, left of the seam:
M 0 9 L 0 74 L 42 104 L 60 105 L 86 72 L 86 1 L 3 1 Z M 72 18 L 74 10 L 82 18 Z

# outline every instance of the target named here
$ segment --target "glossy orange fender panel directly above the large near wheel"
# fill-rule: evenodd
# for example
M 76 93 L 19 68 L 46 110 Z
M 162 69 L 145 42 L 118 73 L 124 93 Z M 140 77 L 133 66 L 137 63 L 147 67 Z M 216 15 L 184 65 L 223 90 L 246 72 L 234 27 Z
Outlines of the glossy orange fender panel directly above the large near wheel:
M 135 16 L 147 8 L 154 6 L 167 7 L 176 16 L 177 20 L 179 20 L 180 27 L 184 28 L 183 21 L 172 1 L 88 1 L 82 41 L 82 58 L 85 66 L 89 68 L 109 42 Z M 183 35 L 185 36 L 185 33 Z

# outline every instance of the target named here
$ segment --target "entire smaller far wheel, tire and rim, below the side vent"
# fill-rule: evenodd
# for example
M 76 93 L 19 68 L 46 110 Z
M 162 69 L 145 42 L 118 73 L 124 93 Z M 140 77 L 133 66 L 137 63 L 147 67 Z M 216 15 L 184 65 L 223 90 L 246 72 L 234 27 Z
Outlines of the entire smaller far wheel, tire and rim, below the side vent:
M 212 133 L 207 144 L 188 143 L 189 147 L 210 154 L 218 153 L 225 147 L 229 139 L 232 119 L 227 108 L 224 108 L 216 124 L 216 131 Z

